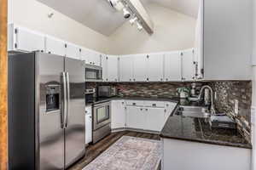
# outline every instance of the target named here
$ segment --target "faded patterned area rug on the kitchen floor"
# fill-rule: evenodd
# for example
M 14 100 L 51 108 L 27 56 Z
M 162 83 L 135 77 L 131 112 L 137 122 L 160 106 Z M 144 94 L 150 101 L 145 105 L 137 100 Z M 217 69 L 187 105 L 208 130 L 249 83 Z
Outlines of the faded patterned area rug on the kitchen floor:
M 83 170 L 156 170 L 160 158 L 159 140 L 123 136 Z

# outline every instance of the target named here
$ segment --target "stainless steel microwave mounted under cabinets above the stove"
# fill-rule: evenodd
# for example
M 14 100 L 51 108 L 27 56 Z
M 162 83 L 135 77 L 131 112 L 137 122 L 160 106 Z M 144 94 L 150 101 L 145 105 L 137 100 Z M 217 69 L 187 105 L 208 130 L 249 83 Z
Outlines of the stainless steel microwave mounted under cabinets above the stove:
M 85 65 L 85 80 L 102 81 L 102 67 L 97 65 Z

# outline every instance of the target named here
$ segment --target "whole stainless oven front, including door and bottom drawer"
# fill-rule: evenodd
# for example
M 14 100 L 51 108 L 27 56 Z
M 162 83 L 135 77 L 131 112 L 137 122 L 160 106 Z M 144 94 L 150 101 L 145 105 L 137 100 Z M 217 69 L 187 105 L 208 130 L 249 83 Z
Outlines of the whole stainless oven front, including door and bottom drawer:
M 93 105 L 93 136 L 92 142 L 95 144 L 97 141 L 106 137 L 111 133 L 111 108 L 110 101 L 96 103 Z

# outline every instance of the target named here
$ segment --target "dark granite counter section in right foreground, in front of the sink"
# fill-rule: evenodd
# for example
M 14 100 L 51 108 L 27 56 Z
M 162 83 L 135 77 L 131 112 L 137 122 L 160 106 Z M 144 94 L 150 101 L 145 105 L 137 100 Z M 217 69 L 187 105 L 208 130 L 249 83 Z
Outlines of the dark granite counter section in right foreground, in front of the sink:
M 208 119 L 178 115 L 177 108 L 169 116 L 160 132 L 161 138 L 252 149 L 252 144 L 249 144 L 238 131 L 222 128 L 211 129 Z

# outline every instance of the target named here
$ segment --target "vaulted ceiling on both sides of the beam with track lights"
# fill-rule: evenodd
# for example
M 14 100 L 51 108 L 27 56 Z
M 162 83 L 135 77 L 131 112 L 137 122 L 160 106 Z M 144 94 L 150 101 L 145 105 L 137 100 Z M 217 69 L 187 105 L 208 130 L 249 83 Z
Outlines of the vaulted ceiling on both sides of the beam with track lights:
M 123 15 L 111 8 L 107 0 L 37 1 L 106 36 L 111 35 L 125 22 Z M 141 2 L 145 8 L 148 3 L 157 3 L 192 17 L 197 16 L 199 7 L 199 0 L 141 0 Z

